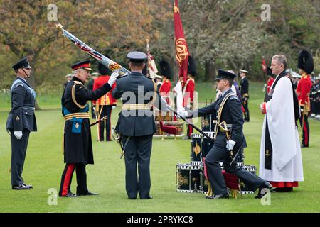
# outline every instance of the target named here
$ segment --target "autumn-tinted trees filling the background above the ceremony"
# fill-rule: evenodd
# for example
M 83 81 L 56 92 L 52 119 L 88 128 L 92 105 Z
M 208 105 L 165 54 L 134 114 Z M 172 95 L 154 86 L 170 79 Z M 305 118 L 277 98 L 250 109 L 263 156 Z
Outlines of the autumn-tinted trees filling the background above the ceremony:
M 0 88 L 14 79 L 11 65 L 28 55 L 36 89 L 61 87 L 74 62 L 90 59 L 55 28 L 55 23 L 102 54 L 127 66 L 132 50 L 146 51 L 149 39 L 156 62 L 166 60 L 178 72 L 174 49 L 173 0 L 55 1 L 58 21 L 48 20 L 50 0 L 0 0 Z M 297 70 L 297 55 L 305 48 L 320 72 L 320 2 L 270 0 L 270 21 L 262 19 L 263 1 L 178 1 L 190 54 L 198 62 L 198 79 L 211 82 L 218 68 L 250 71 L 262 81 L 261 60 L 287 56 Z M 92 62 L 95 67 L 96 62 Z

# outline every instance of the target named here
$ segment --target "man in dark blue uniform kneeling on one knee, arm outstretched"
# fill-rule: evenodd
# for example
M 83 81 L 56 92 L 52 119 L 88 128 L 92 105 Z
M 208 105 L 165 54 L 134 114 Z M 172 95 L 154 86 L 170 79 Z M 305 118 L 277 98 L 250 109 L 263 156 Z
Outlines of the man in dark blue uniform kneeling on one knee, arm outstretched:
M 262 196 L 265 195 L 262 189 L 271 189 L 272 187 L 269 182 L 266 182 L 242 167 L 237 167 L 235 164 L 235 157 L 238 155 L 238 150 L 242 148 L 245 139 L 242 133 L 244 121 L 242 118 L 241 104 L 231 89 L 234 78 L 235 74 L 225 70 L 218 70 L 218 76 L 215 81 L 217 89 L 222 92 L 219 99 L 213 104 L 198 110 L 178 112 L 180 116 L 187 118 L 206 116 L 217 112 L 218 123 L 215 126 L 215 144 L 205 160 L 210 186 L 215 194 L 214 196 L 206 196 L 207 199 L 229 198 L 220 162 L 223 162 L 223 169 L 226 172 L 233 172 L 235 175 L 238 175 L 246 185 L 259 188 L 256 198 L 262 198 Z M 228 134 L 219 127 L 219 124 L 223 123 L 223 121 L 228 127 Z M 228 135 L 230 135 L 230 137 Z

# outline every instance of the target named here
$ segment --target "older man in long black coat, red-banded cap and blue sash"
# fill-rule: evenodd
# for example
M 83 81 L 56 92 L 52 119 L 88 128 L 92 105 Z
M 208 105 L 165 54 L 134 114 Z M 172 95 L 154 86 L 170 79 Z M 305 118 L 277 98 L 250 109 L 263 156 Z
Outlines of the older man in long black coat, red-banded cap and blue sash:
M 59 196 L 75 197 L 95 195 L 87 189 L 85 165 L 93 164 L 92 140 L 89 122 L 88 100 L 99 99 L 112 89 L 118 73 L 114 72 L 109 81 L 92 92 L 84 87 L 90 77 L 90 61 L 78 62 L 71 67 L 73 79 L 65 88 L 61 99 L 62 114 L 65 118 L 64 160 L 65 170 L 61 178 Z M 77 174 L 77 194 L 70 192 L 73 172 Z

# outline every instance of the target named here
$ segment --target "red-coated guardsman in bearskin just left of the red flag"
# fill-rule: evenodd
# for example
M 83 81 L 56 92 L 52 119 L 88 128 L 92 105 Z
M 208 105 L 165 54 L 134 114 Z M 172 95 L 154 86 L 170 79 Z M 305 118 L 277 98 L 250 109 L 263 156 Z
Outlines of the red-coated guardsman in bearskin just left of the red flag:
M 170 91 L 171 91 L 171 67 L 170 64 L 164 60 L 159 62 L 159 73 L 162 77 L 162 84 L 159 89 L 160 95 L 166 100 L 166 103 L 170 105 Z

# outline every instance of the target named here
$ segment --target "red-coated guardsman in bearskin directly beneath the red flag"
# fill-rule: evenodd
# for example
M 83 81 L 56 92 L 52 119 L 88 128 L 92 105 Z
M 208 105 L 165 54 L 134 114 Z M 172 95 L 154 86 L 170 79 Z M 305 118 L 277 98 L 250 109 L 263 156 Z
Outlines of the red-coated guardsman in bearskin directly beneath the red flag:
M 187 72 L 187 80 L 183 84 L 183 107 L 186 110 L 192 110 L 193 109 L 193 92 L 195 92 L 195 82 L 194 77 L 196 77 L 197 73 L 197 66 L 196 61 L 193 59 L 193 57 L 188 56 L 188 72 Z M 183 139 L 190 139 L 191 134 L 193 133 L 193 128 L 191 125 L 187 124 L 187 135 Z

